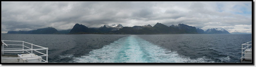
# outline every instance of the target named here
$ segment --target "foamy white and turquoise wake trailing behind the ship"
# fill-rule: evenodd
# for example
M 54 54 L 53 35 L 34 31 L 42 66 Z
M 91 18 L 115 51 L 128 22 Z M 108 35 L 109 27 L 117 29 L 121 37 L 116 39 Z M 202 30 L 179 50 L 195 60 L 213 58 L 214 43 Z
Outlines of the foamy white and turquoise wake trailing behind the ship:
M 136 35 L 120 38 L 88 55 L 74 57 L 78 63 L 212 63 L 205 57 L 190 59 L 176 51 L 168 51 Z

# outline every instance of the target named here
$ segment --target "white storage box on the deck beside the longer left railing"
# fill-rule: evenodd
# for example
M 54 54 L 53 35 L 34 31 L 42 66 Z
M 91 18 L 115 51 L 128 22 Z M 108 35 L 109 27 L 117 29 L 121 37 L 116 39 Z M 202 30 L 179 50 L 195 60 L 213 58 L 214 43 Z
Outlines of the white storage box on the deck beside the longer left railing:
M 21 58 L 19 59 L 19 63 L 41 63 L 42 57 L 35 57 L 38 56 L 36 54 L 18 54 L 18 57 L 33 57 L 33 58 Z

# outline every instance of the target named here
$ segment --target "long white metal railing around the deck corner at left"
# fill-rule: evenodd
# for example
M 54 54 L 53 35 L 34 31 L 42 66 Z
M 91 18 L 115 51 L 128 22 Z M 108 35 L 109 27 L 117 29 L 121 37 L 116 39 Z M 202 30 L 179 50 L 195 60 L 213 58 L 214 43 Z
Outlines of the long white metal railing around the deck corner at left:
M 11 40 L 1 40 L 1 41 L 4 42 L 4 41 L 11 41 Z M 4 45 L 3 45 L 2 48 L 1 48 L 1 52 L 3 53 L 3 55 L 5 53 L 4 51 L 6 51 L 6 53 L 24 53 L 24 51 L 26 51 L 26 52 L 31 51 L 31 53 L 30 52 L 28 52 L 28 53 L 32 54 L 33 51 L 38 52 L 37 50 L 46 50 L 46 54 L 44 54 L 42 52 L 38 52 L 38 53 L 43 54 L 43 55 L 42 56 L 34 56 L 34 57 L 44 57 L 44 56 L 46 56 L 46 60 L 42 59 L 44 61 L 42 63 L 48 63 L 48 48 L 28 43 L 28 44 L 31 45 L 31 48 L 29 48 L 27 46 L 24 46 L 24 43 L 27 43 L 27 42 L 24 42 L 24 41 L 11 41 L 11 42 L 22 42 L 22 45 L 20 45 L 20 46 L 22 46 L 22 48 L 4 48 Z M 11 44 L 6 44 L 6 45 L 11 45 Z M 41 47 L 41 49 L 33 49 L 33 46 Z M 27 47 L 28 49 L 24 50 L 24 47 Z M 13 49 L 13 50 L 4 50 L 4 49 Z M 22 51 L 22 52 L 7 52 L 7 51 Z M 21 58 L 33 58 L 33 57 L 17 57 L 17 58 L 1 58 L 1 59 L 21 59 Z

